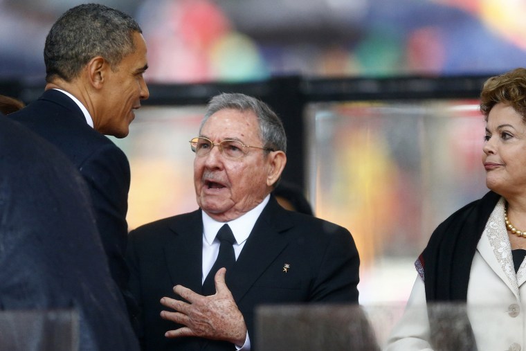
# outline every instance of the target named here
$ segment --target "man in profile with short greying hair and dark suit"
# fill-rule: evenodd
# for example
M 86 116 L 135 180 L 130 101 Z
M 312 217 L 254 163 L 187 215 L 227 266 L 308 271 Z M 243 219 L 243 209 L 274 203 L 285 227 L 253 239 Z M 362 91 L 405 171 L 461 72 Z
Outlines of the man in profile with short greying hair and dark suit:
M 71 8 L 46 37 L 45 92 L 9 117 L 44 137 L 80 170 L 87 181 L 111 276 L 127 293 L 127 197 L 125 154 L 104 134 L 127 136 L 134 109 L 149 96 L 143 73 L 146 44 L 136 21 L 94 3 Z

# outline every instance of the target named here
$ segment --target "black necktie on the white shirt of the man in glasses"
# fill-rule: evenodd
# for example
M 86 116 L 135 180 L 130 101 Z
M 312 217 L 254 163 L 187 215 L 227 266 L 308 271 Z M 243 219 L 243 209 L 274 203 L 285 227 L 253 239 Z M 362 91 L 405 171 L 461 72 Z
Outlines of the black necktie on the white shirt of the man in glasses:
M 221 226 L 221 229 L 217 232 L 217 239 L 221 242 L 219 245 L 219 255 L 217 255 L 217 260 L 215 260 L 212 269 L 210 269 L 210 273 L 208 273 L 205 282 L 203 282 L 204 296 L 215 294 L 215 273 L 217 273 L 221 267 L 225 267 L 228 274 L 228 271 L 230 271 L 235 263 L 234 247 L 232 246 L 235 238 L 228 224 Z

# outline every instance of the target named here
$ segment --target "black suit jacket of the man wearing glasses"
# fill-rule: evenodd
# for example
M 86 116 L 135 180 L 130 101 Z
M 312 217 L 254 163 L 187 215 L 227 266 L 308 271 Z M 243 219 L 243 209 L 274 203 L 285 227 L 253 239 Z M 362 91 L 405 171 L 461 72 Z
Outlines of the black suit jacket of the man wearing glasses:
M 201 291 L 201 210 L 131 231 L 128 255 L 131 292 L 143 310 L 143 345 L 148 351 L 235 350 L 231 343 L 196 338 L 166 339 L 179 325 L 159 316 L 163 296 L 176 297 L 180 284 Z M 289 264 L 287 272 L 284 265 Z M 359 255 L 347 229 L 284 210 L 274 197 L 257 219 L 226 284 L 255 345 L 255 307 L 276 303 L 358 303 Z

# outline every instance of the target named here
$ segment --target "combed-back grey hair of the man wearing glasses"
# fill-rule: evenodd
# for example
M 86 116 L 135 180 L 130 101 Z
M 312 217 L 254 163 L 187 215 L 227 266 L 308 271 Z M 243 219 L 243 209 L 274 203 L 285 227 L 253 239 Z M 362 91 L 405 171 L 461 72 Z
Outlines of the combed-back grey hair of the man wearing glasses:
M 201 127 L 199 127 L 199 133 L 201 133 L 201 129 L 208 118 L 222 109 L 253 111 L 260 125 L 260 138 L 263 147 L 274 151 L 287 152 L 287 135 L 280 118 L 266 103 L 241 93 L 221 93 L 214 96 L 208 103 L 206 114 L 201 122 Z

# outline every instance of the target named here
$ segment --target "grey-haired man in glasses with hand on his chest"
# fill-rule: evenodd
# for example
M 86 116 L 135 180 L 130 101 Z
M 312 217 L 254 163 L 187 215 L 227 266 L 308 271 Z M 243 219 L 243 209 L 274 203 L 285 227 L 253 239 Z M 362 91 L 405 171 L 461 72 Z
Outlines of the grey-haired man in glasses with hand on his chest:
M 358 302 L 349 231 L 271 195 L 287 139 L 266 104 L 215 96 L 190 145 L 199 210 L 130 233 L 145 350 L 250 350 L 258 305 Z

